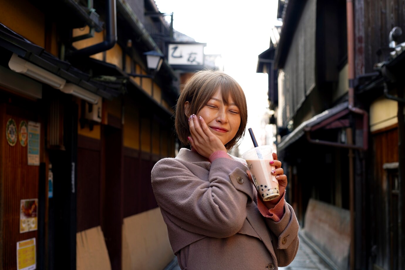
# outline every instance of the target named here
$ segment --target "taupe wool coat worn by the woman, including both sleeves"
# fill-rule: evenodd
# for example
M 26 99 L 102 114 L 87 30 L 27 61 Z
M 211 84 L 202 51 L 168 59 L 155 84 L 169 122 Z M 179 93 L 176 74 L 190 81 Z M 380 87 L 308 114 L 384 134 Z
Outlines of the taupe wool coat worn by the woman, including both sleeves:
M 183 270 L 277 269 L 298 250 L 298 221 L 285 203 L 279 222 L 263 217 L 243 159 L 212 164 L 182 148 L 152 170 L 152 186 Z

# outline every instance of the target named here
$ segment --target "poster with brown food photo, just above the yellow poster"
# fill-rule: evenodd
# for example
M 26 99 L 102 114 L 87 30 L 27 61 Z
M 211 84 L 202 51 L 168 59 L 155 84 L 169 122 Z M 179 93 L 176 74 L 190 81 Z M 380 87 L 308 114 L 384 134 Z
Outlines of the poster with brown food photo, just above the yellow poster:
M 38 230 L 38 199 L 20 201 L 20 233 Z

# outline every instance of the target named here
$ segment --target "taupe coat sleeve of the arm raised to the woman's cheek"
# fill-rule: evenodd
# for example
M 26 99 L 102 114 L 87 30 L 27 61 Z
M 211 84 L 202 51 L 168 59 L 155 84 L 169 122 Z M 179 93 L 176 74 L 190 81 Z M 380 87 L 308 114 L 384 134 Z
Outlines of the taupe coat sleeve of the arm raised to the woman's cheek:
M 177 159 L 160 160 L 151 173 L 156 200 L 168 218 L 185 230 L 216 238 L 232 236 L 245 221 L 253 185 L 245 166 L 233 159 L 215 159 L 207 173 L 208 179 L 199 179 Z

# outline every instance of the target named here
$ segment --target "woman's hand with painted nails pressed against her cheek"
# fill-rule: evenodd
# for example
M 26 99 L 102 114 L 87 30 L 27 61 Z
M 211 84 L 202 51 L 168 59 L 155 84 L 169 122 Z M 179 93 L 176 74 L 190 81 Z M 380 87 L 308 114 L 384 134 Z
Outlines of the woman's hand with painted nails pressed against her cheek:
M 218 150 L 226 151 L 224 144 L 209 130 L 203 117 L 191 115 L 188 118 L 191 138 L 189 138 L 191 146 L 203 157 L 209 156 Z

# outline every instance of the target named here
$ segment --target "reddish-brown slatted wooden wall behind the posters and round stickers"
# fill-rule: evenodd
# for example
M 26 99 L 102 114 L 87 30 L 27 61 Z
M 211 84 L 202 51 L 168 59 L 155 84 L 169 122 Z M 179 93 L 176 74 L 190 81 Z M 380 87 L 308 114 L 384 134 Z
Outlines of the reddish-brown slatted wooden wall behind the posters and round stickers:
M 0 104 L 0 268 L 4 270 L 16 269 L 18 241 L 36 238 L 38 247 L 38 231 L 20 233 L 19 222 L 20 200 L 38 198 L 39 166 L 28 166 L 27 146 L 22 147 L 18 140 L 14 146 L 8 144 L 5 130 L 10 118 L 14 119 L 18 129 L 22 120 L 27 124 L 28 121 L 38 121 L 38 113 L 32 107 Z M 41 126 L 41 141 L 43 131 Z M 38 216 L 37 221 L 40 221 Z

